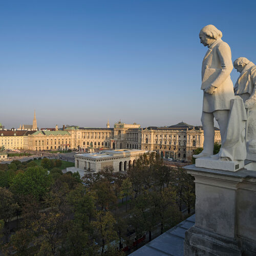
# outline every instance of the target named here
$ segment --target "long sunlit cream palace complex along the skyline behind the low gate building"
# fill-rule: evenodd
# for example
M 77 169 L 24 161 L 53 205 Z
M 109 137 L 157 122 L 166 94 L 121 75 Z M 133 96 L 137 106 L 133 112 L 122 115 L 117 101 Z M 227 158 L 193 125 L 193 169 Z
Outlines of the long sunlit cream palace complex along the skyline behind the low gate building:
M 164 127 L 142 128 L 137 123 L 127 124 L 118 121 L 113 128 L 110 128 L 108 120 L 106 128 L 75 125 L 65 127 L 63 125 L 62 129 L 58 129 L 56 125 L 55 128 L 41 129 L 40 131 L 37 131 L 36 126 L 34 113 L 33 125 L 30 128 L 36 132 L 16 131 L 15 139 L 8 138 L 9 141 L 0 139 L 0 145 L 9 142 L 9 144 L 5 144 L 6 148 L 24 148 L 33 151 L 71 149 L 87 152 L 89 148 L 96 151 L 123 149 L 156 151 L 162 158 L 190 160 L 196 148 L 203 147 L 204 142 L 202 126 L 194 126 L 185 122 Z M 17 136 L 21 133 L 22 137 Z M 9 137 L 14 137 L 14 132 L 8 134 Z M 215 128 L 215 142 L 221 143 L 218 128 Z

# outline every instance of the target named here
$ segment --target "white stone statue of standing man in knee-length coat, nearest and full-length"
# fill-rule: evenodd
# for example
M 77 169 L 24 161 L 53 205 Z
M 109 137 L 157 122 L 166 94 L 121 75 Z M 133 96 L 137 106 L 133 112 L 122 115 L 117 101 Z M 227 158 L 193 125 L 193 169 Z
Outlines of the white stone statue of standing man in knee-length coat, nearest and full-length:
M 222 41 L 222 32 L 213 25 L 203 27 L 199 33 L 201 44 L 209 49 L 202 63 L 204 149 L 193 157 L 208 157 L 214 150 L 214 118 L 217 120 L 222 143 L 228 124 L 231 99 L 234 99 L 230 73 L 233 69 L 231 51 Z M 216 158 L 216 157 L 213 157 Z M 218 156 L 217 156 L 218 158 Z

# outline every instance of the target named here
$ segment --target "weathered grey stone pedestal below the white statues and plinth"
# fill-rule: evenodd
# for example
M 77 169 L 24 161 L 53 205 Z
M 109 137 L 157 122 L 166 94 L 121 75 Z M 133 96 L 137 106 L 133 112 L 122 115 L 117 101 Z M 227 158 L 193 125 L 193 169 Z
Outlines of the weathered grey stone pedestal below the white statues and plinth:
M 184 168 L 196 183 L 196 222 L 184 255 L 256 255 L 256 172 Z

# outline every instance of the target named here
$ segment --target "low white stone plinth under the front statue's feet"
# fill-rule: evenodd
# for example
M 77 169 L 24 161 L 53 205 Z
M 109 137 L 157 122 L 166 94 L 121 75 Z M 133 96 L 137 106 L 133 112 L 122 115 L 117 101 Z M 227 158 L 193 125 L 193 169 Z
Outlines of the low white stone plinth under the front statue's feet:
M 225 161 L 212 159 L 210 157 L 200 157 L 196 159 L 196 167 L 237 172 L 244 167 L 244 161 Z

